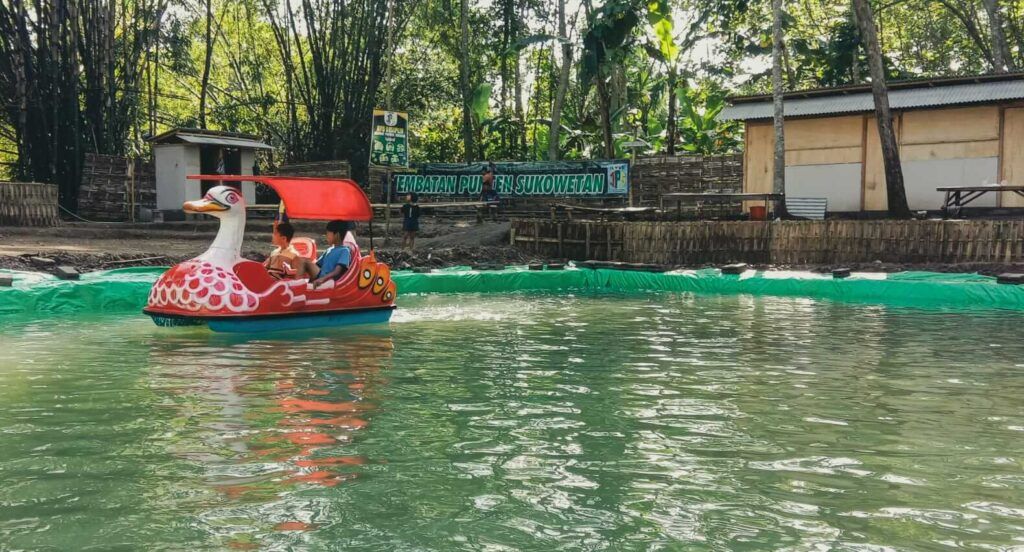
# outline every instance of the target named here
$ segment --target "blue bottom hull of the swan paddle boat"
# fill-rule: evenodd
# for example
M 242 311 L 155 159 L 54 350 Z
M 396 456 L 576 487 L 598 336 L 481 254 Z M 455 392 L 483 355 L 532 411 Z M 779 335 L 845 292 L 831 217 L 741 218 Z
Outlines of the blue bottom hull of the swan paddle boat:
M 152 316 L 153 322 L 161 327 L 206 325 L 214 332 L 241 334 L 383 324 L 391 320 L 391 312 L 394 311 L 394 305 L 388 305 L 380 308 L 356 308 L 255 316 L 183 316 L 150 310 L 144 310 L 143 312 Z

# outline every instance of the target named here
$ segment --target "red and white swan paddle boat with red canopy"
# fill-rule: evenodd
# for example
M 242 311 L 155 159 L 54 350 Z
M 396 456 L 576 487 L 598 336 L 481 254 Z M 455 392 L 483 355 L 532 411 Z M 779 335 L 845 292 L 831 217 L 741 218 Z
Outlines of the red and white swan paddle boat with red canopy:
M 189 179 L 255 181 L 272 187 L 291 218 L 369 221 L 373 208 L 352 180 L 294 176 L 190 175 Z M 391 269 L 374 252 L 359 253 L 347 232 L 342 246 L 352 263 L 336 281 L 313 288 L 308 280 L 275 280 L 263 264 L 242 257 L 246 201 L 242 193 L 217 185 L 188 213 L 217 217 L 220 227 L 202 255 L 175 264 L 150 292 L 144 313 L 158 326 L 206 325 L 215 332 L 266 332 L 387 322 L 394 310 Z M 316 243 L 296 237 L 293 246 L 315 259 Z

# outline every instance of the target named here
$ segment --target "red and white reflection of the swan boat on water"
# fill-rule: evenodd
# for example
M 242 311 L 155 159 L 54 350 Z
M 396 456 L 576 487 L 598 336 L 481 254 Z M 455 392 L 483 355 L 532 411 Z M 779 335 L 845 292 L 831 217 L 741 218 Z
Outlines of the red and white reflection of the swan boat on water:
M 274 516 L 275 530 L 315 528 L 316 512 L 289 507 L 289 495 L 350 480 L 353 466 L 372 461 L 346 445 L 369 424 L 392 350 L 386 329 L 258 339 L 200 332 L 152 344 L 148 370 L 181 437 L 168 452 L 203 467 L 198 490 L 226 499 L 202 516 L 211 533 L 232 548 L 257 547 L 252 533 L 267 520 L 239 518 L 237 504 L 288 512 Z

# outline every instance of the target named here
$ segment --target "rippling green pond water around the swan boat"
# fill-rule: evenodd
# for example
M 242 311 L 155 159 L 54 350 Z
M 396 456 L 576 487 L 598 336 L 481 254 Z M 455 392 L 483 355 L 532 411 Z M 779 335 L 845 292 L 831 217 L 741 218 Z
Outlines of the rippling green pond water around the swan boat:
M 1024 314 L 401 297 L 0 319 L 0 550 L 1024 547 Z

